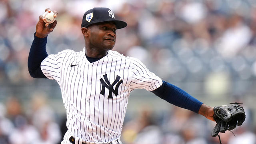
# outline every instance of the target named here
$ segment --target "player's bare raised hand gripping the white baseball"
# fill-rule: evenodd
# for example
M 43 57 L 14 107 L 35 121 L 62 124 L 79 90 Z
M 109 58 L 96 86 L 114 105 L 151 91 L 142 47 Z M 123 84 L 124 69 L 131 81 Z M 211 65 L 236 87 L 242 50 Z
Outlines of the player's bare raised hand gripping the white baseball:
M 45 12 L 46 11 L 51 12 L 50 8 L 46 8 Z M 58 15 L 58 12 L 55 10 L 53 12 L 54 12 L 54 18 L 56 18 Z M 45 20 L 44 16 L 40 15 L 39 20 L 36 24 L 36 36 L 38 38 L 45 38 L 48 34 L 50 34 L 53 31 L 53 29 L 57 24 L 57 20 L 55 20 L 52 24 L 45 23 L 44 20 Z

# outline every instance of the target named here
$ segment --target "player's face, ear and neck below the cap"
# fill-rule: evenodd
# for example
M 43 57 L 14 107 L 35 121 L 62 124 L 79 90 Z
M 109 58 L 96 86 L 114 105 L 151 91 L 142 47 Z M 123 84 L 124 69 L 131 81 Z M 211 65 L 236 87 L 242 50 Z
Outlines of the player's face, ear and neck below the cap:
M 116 25 L 114 22 L 100 22 L 88 28 L 82 27 L 85 54 L 92 58 L 101 58 L 108 54 L 116 44 Z

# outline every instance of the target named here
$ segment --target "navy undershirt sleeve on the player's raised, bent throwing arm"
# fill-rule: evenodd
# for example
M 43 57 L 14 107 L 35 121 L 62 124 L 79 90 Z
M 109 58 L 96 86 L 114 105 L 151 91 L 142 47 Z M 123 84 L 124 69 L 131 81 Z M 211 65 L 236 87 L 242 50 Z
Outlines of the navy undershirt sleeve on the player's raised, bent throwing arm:
M 41 62 L 48 56 L 46 52 L 47 37 L 38 38 L 34 33 L 30 52 L 28 55 L 28 72 L 33 78 L 47 78 L 41 70 Z

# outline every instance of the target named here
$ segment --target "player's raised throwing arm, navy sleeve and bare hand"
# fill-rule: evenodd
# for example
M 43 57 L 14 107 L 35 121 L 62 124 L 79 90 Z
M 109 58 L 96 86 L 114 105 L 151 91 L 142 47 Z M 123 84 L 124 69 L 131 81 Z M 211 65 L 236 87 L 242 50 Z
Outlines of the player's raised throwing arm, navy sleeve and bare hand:
M 50 12 L 51 10 L 47 8 L 45 11 Z M 54 17 L 57 17 L 58 13 L 56 11 L 53 12 Z M 28 55 L 28 71 L 33 78 L 46 78 L 40 68 L 40 64 L 48 56 L 46 52 L 47 36 L 54 30 L 56 24 L 56 20 L 52 24 L 45 23 L 44 17 L 39 16 L 36 24 L 36 33 Z

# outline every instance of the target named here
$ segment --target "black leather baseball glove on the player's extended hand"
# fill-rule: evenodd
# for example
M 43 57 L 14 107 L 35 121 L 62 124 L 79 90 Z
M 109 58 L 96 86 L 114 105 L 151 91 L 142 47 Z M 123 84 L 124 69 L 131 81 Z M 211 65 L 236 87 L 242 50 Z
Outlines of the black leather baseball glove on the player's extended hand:
M 213 118 L 216 125 L 212 130 L 212 137 L 218 135 L 219 132 L 225 133 L 226 130 L 233 130 L 236 126 L 241 126 L 245 120 L 244 108 L 240 103 L 230 103 L 230 106 L 215 106 L 213 108 Z M 218 135 L 219 136 L 219 135 Z

